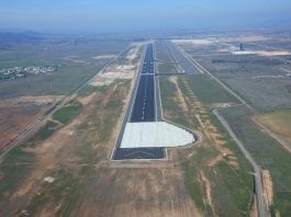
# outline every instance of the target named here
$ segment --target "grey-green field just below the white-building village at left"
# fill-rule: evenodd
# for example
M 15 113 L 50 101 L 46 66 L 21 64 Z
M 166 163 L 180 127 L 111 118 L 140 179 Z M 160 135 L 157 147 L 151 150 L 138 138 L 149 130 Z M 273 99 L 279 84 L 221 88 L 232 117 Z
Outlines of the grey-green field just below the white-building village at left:
M 30 76 L 1 81 L 0 99 L 22 95 L 66 95 L 77 89 L 104 66 L 105 61 L 92 65 L 63 62 L 53 75 Z

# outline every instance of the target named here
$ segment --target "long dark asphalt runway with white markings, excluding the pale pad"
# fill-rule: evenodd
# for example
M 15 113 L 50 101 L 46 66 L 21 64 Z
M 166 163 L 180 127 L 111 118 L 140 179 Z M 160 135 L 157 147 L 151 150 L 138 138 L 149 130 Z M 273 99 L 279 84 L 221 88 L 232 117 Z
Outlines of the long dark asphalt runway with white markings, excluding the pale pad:
M 126 122 L 156 122 L 156 98 L 155 98 L 155 62 L 154 46 L 149 44 L 146 48 L 144 61 L 139 71 L 138 84 L 134 95 L 133 106 L 130 106 L 131 113 Z M 113 160 L 131 160 L 131 159 L 163 159 L 165 158 L 164 148 L 120 148 L 124 133 L 121 132 L 116 148 L 113 153 Z

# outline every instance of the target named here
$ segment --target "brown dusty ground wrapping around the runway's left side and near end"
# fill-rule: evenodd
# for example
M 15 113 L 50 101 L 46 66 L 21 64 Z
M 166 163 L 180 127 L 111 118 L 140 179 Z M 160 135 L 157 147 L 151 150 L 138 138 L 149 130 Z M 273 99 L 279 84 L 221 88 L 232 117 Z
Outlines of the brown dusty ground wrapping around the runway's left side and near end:
M 78 96 L 77 100 L 83 104 L 80 115 L 48 139 L 25 148 L 36 157 L 32 171 L 9 199 L 0 203 L 5 207 L 0 207 L 0 210 L 5 210 L 0 214 L 30 210 L 35 216 L 55 216 L 65 215 L 63 212 L 69 208 L 70 216 L 202 216 L 187 193 L 175 150 L 170 151 L 169 161 L 109 161 L 122 123 L 120 114 L 126 110 L 125 104 L 122 110 L 116 108 L 117 104 L 112 104 L 112 99 L 128 102 L 133 87 L 133 82 L 128 85 L 124 80 L 117 81 L 103 91 Z M 114 116 L 117 121 L 109 122 Z M 107 127 L 111 130 L 108 139 L 103 138 Z M 83 168 L 89 168 L 90 173 L 85 170 L 83 175 L 80 172 Z M 65 179 L 57 175 L 60 169 L 67 171 L 67 176 L 72 176 L 72 180 L 58 189 Z M 45 184 L 47 176 L 55 182 Z M 204 179 L 203 182 L 206 183 Z M 75 189 L 70 187 L 78 183 L 83 183 L 81 193 L 74 205 L 67 205 L 76 196 Z M 37 195 L 44 195 L 44 203 L 35 201 Z

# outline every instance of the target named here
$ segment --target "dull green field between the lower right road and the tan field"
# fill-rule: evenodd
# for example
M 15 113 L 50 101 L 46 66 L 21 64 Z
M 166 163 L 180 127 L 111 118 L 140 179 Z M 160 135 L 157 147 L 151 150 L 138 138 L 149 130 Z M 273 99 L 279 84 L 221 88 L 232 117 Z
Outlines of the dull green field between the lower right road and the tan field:
M 270 171 L 275 190 L 272 208 L 279 209 L 281 216 L 291 216 L 291 155 L 249 119 L 248 108 L 226 108 L 221 114 L 262 169 Z

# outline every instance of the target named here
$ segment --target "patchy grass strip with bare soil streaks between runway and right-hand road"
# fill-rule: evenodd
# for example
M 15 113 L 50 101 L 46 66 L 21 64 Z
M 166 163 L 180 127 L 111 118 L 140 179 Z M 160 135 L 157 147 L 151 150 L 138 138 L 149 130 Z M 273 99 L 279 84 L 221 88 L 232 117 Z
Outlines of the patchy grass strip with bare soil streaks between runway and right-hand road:
M 212 88 L 213 85 L 214 88 Z M 177 105 L 175 100 L 177 87 L 165 79 L 160 82 L 160 89 L 166 117 L 190 128 L 201 129 L 202 126 L 197 126 L 200 122 L 195 118 L 195 115 L 203 116 L 202 122 L 215 127 L 215 135 L 219 135 L 219 140 L 223 141 L 220 142 L 221 145 L 215 145 L 213 144 L 216 142 L 215 140 L 205 139 L 203 146 L 199 146 L 193 150 L 191 148 L 180 150 L 184 184 L 189 195 L 205 216 L 212 216 L 214 213 L 219 216 L 227 216 L 230 213 L 234 216 L 247 216 L 254 195 L 251 167 L 212 112 L 206 108 L 203 110 L 203 107 L 210 107 L 212 103 L 230 103 L 235 100 L 227 92 L 221 90 L 220 85 L 215 87 L 215 82 L 203 75 L 202 77 L 179 77 L 178 87 L 189 107 L 187 110 L 188 114 L 184 114 Z M 199 94 L 197 94 L 197 90 Z M 215 98 L 210 96 L 215 92 L 219 92 Z M 201 103 L 200 107 L 197 107 L 197 103 L 193 104 L 193 101 L 199 101 Z M 187 118 L 187 116 L 191 118 Z M 201 130 L 206 129 L 202 128 Z M 223 149 L 231 152 L 213 167 L 210 167 L 210 162 L 222 155 Z M 235 159 L 235 163 L 233 159 Z M 212 205 L 208 198 L 205 183 L 200 176 L 201 171 L 210 181 Z M 227 208 L 225 204 L 227 204 Z

